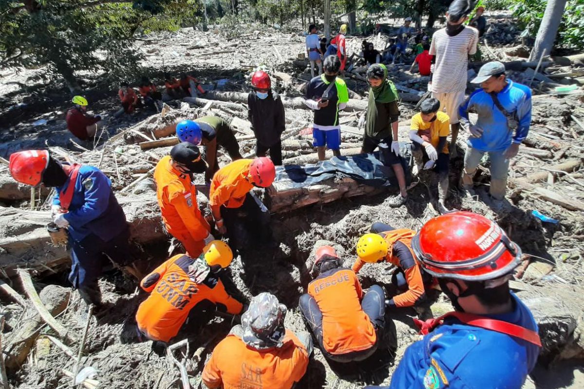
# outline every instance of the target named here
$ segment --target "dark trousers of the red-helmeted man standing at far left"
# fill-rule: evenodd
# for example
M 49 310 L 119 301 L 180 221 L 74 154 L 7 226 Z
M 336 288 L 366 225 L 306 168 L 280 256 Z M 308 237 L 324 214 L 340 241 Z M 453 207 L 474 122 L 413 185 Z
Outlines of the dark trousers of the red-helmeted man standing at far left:
M 86 303 L 101 304 L 98 278 L 107 257 L 119 266 L 133 262 L 129 240 L 129 228 L 109 241 L 103 241 L 95 234 L 89 234 L 81 241 L 69 239 L 72 262 L 69 281 L 79 289 L 79 295 Z

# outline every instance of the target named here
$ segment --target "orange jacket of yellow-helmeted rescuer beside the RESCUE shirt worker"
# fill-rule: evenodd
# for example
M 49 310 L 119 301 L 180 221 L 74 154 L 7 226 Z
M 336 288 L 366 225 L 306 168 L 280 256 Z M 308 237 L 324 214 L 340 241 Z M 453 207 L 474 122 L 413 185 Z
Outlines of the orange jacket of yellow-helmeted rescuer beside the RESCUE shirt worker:
M 412 250 L 412 238 L 415 234 L 415 231 L 409 229 L 381 233 L 387 242 L 387 247 L 390 248 L 389 253 L 385 256 L 385 261 L 401 268 L 404 271 L 406 282 L 408 282 L 408 290 L 393 297 L 396 307 L 413 306 L 424 295 L 422 270 L 415 260 L 415 254 Z M 398 247 L 401 245 L 405 247 Z M 402 254 L 399 254 L 399 251 L 402 251 Z M 353 271 L 358 273 L 365 263 L 361 258 L 357 258 L 352 267 Z

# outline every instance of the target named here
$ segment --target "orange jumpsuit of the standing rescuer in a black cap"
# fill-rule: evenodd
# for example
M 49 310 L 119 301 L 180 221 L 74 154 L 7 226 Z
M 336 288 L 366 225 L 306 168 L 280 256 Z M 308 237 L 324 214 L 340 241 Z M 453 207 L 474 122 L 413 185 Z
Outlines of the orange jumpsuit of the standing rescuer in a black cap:
M 205 247 L 211 227 L 197 205 L 197 189 L 188 174 L 172 167 L 171 156 L 163 157 L 154 170 L 158 205 L 166 230 L 183 244 L 193 258 Z

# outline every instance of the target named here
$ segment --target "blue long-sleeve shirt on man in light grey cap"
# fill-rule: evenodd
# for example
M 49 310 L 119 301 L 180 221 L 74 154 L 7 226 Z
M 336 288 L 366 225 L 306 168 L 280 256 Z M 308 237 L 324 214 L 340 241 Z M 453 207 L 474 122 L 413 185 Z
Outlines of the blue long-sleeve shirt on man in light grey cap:
M 509 148 L 511 143 L 522 143 L 527 138 L 531 122 L 531 90 L 529 87 L 507 81 L 505 88 L 497 94 L 499 103 L 510 114 L 515 114 L 519 125 L 513 130 L 507 125 L 507 118 L 493 102 L 491 96 L 482 89 L 475 90 L 458 108 L 458 115 L 464 127 L 468 128 L 468 111 L 478 114 L 477 126 L 482 128 L 480 138 L 468 138 L 468 145 L 484 152 L 498 152 Z

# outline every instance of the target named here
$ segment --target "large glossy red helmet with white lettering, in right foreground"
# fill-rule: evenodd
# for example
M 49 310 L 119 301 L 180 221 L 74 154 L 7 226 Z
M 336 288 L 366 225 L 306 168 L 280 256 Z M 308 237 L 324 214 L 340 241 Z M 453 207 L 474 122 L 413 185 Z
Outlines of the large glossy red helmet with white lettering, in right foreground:
M 486 281 L 519 265 L 521 248 L 485 216 L 450 212 L 430 219 L 412 239 L 418 261 L 438 278 Z

